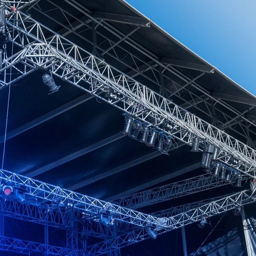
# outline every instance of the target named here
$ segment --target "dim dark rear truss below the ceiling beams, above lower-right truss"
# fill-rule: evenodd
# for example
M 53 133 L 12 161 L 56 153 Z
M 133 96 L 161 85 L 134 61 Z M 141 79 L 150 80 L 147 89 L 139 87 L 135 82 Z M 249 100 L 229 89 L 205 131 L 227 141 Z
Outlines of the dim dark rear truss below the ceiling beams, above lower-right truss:
M 226 184 L 228 183 L 224 182 L 224 180 L 205 174 L 128 195 L 111 201 L 111 203 L 130 209 L 137 209 Z

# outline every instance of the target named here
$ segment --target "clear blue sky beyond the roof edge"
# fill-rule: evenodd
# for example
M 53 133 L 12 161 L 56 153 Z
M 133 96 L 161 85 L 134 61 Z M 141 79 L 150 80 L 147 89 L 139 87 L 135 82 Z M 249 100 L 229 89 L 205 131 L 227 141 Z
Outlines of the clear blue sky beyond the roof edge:
M 256 0 L 127 0 L 256 95 Z

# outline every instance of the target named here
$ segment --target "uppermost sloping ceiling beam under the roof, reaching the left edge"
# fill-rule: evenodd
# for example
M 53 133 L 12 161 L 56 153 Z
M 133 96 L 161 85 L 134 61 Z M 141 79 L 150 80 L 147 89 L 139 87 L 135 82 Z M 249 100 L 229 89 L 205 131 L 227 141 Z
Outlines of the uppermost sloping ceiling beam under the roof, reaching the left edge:
M 68 102 L 67 104 L 62 105 L 61 107 L 56 108 L 55 110 L 53 110 L 43 116 L 40 116 L 37 119 L 34 119 L 33 121 L 28 122 L 25 125 L 22 125 L 13 131 L 8 132 L 6 134 L 6 140 L 12 139 L 13 137 L 15 137 L 19 134 L 22 134 L 23 132 L 28 131 L 29 129 L 32 129 L 32 128 L 36 127 L 37 125 L 40 125 L 40 124 L 52 119 L 53 117 L 58 116 L 66 111 L 69 111 L 70 109 L 75 108 L 76 106 L 78 106 L 84 102 L 87 102 L 88 100 L 93 99 L 93 98 L 94 98 L 93 95 L 86 93 L 83 96 L 81 96 L 77 99 L 74 99 L 73 101 Z M 3 143 L 4 140 L 5 140 L 5 136 L 2 135 L 0 137 L 0 143 Z

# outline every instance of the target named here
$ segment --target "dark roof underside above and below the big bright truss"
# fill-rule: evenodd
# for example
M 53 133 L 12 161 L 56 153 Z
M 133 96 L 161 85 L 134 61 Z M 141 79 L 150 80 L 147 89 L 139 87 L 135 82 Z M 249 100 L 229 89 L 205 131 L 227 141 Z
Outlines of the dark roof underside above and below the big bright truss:
M 41 0 L 29 12 L 88 52 L 254 147 L 256 98 L 124 1 Z M 201 154 L 189 152 L 178 141 L 169 155 L 162 155 L 120 134 L 122 113 L 78 88 L 55 79 L 61 88 L 48 95 L 43 73 L 36 71 L 11 86 L 4 169 L 100 199 L 204 173 L 198 168 Z M 6 87 L 0 93 L 1 120 L 6 119 L 8 91 Z M 5 125 L 0 123 L 1 153 Z M 233 190 L 224 186 L 142 211 Z

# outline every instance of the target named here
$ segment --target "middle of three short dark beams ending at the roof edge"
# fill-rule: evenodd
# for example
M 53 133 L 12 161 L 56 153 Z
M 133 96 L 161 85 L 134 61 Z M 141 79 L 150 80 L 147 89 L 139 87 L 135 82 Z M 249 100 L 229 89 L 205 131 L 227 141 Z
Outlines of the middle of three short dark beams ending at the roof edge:
M 197 63 L 192 63 L 192 62 L 187 62 L 187 61 L 179 61 L 171 58 L 161 58 L 160 60 L 162 63 L 169 64 L 171 66 L 176 66 L 176 67 L 183 67 L 183 68 L 188 68 L 192 70 L 198 70 L 202 71 L 205 73 L 213 73 L 214 69 L 212 67 L 207 66 L 205 64 L 197 64 Z

